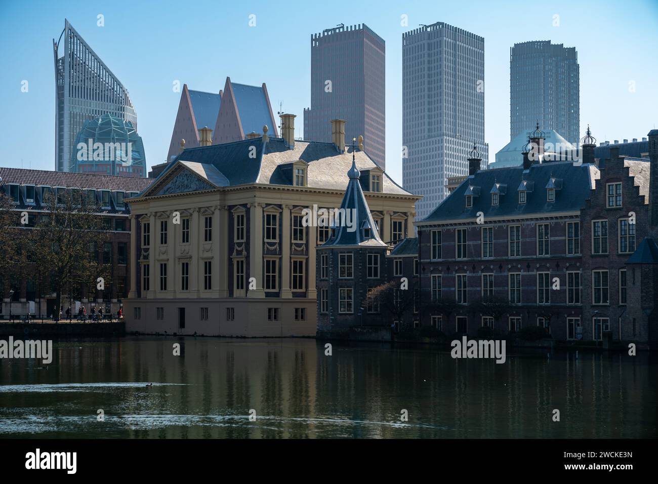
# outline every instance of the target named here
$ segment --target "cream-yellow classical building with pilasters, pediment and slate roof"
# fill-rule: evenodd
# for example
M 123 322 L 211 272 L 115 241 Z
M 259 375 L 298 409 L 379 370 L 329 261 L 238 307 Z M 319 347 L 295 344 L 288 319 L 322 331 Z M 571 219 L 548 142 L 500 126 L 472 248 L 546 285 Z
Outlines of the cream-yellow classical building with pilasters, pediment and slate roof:
M 345 121 L 331 122 L 333 143 L 294 140 L 293 122 L 282 116 L 283 138 L 264 126 L 257 138 L 184 149 L 129 201 L 127 331 L 315 335 L 323 297 L 315 248 L 331 229 L 305 215 L 340 206 L 352 151 L 382 239 L 395 245 L 413 234 L 420 197 L 382 172 L 361 142 L 345 146 Z

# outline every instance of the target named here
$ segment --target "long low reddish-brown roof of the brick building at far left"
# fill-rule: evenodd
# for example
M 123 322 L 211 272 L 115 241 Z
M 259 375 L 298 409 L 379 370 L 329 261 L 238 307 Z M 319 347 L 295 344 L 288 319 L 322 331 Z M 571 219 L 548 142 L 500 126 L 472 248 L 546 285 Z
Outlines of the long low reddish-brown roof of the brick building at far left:
M 68 173 L 50 170 L 0 167 L 2 184 L 63 186 L 70 188 L 95 188 L 119 192 L 141 192 L 153 183 L 153 178 L 139 176 L 114 176 L 97 173 Z

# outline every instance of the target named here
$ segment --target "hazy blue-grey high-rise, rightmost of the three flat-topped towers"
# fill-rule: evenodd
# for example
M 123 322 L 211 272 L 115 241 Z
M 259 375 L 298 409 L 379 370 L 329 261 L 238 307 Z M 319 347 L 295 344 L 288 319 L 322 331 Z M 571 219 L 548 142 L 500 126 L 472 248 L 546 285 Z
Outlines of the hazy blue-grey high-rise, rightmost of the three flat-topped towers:
M 549 40 L 515 43 L 509 55 L 510 130 L 555 130 L 574 146 L 580 139 L 580 68 L 576 47 Z

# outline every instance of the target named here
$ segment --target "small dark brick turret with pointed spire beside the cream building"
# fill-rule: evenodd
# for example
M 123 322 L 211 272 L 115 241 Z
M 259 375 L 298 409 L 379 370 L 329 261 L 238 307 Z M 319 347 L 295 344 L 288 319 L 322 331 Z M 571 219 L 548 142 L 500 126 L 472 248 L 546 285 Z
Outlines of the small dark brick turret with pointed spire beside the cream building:
M 386 254 L 361 188 L 356 164 L 356 138 L 352 140 L 352 165 L 340 209 L 330 212 L 329 239 L 316 249 L 318 333 L 334 335 L 353 326 L 377 325 L 379 314 L 362 304 L 368 289 L 386 279 Z

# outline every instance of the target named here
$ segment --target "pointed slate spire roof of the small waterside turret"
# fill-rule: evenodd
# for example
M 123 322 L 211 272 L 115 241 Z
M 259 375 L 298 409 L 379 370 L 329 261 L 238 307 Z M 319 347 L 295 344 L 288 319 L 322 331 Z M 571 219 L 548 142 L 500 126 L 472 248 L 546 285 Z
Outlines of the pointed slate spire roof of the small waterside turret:
M 340 213 L 347 214 L 347 222 L 342 217 L 334 219 L 332 223 L 331 236 L 322 244 L 322 247 L 330 246 L 374 246 L 387 247 L 379 238 L 377 226 L 372 220 L 368 202 L 363 195 L 361 182 L 359 181 L 359 170 L 355 164 L 353 153 L 352 165 L 347 172 L 349 183 L 345 188 L 345 195 L 340 203 Z M 364 229 L 368 229 L 368 234 Z

